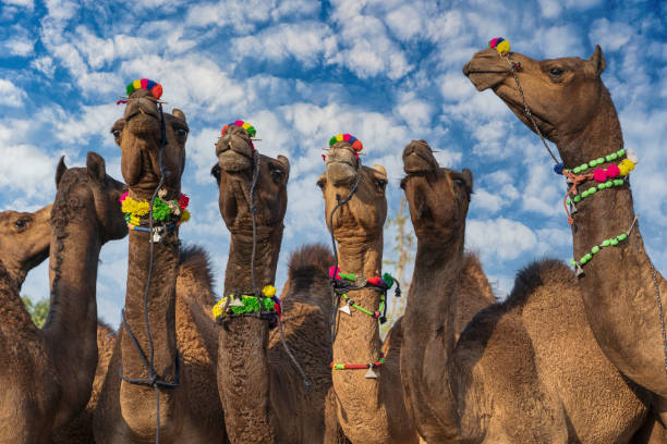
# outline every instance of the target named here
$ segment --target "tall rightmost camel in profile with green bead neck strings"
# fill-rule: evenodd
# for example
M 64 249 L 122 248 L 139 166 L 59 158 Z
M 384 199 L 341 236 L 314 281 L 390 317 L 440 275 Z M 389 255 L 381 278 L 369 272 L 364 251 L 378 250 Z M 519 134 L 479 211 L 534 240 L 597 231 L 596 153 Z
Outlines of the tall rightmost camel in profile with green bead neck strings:
M 624 375 L 658 395 L 664 404 L 667 348 L 660 320 L 667 283 L 644 249 L 639 224 L 633 225 L 632 192 L 623 175 L 634 168 L 636 159 L 623 148 L 618 114 L 601 78 L 606 67 L 603 51 L 597 46 L 589 60 L 538 61 L 517 52 L 499 55 L 487 49 L 463 67 L 478 90 L 492 88 L 535 131 L 524 115 L 508 61 L 520 64 L 516 75 L 535 124 L 558 147 L 562 163 L 555 171 L 565 169 L 577 180 L 579 192 L 571 195 L 578 209 L 572 214 L 574 266 L 583 272 L 579 286 L 595 338 Z M 609 170 L 614 181 L 608 181 L 611 185 L 603 187 L 602 193 L 587 197 L 593 194 L 589 189 L 596 188 L 603 178 L 597 170 L 602 175 Z M 610 247 L 601 248 L 605 239 L 610 239 L 606 243 Z M 667 411 L 667 406 L 659 410 Z

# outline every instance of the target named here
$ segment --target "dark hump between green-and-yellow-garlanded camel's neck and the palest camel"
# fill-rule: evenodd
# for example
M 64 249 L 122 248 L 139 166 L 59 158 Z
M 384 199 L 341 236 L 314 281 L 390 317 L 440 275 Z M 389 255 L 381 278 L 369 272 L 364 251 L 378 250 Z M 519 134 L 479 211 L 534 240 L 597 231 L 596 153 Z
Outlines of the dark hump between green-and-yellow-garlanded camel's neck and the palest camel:
M 304 245 L 293 251 L 288 266 L 284 295 L 299 294 L 300 298 L 317 305 L 327 316 L 331 311 L 329 267 L 332 264 L 333 255 L 323 244 Z

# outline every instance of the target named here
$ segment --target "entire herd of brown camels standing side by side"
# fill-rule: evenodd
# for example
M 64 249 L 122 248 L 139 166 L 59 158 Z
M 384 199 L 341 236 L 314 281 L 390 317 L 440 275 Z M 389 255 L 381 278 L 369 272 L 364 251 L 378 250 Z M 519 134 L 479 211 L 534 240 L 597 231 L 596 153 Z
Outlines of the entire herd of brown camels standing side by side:
M 589 60 L 543 61 L 489 48 L 463 73 L 555 143 L 566 172 L 592 159 L 611 171 L 624 151 L 605 64 L 599 47 Z M 317 186 L 336 256 L 323 245 L 293 252 L 278 301 L 266 288 L 290 164 L 259 155 L 254 128 L 228 125 L 211 170 L 231 236 L 226 304 L 216 305 L 206 252 L 181 247 L 179 223 L 150 222 L 154 203 L 129 224 L 119 205 L 181 197 L 189 127 L 157 98 L 140 85 L 111 128 L 124 183 L 89 152 L 85 168 L 60 161 L 52 206 L 0 214 L 0 442 L 667 442 L 667 285 L 644 249 L 627 180 L 575 199 L 583 274 L 533 262 L 496 303 L 463 249 L 471 171 L 440 168 L 426 141 L 411 141 L 401 188 L 417 237 L 414 275 L 404 316 L 381 341 L 376 310 L 390 284 L 372 278 L 381 275 L 385 169 L 362 165 L 349 137 L 331 140 Z M 594 184 L 568 174 L 579 189 Z M 101 246 L 126 235 L 114 332 L 97 318 L 97 267 Z M 50 311 L 38 329 L 19 292 L 47 257 Z M 344 299 L 332 298 L 335 263 L 354 278 Z M 271 301 L 252 309 L 254 298 Z

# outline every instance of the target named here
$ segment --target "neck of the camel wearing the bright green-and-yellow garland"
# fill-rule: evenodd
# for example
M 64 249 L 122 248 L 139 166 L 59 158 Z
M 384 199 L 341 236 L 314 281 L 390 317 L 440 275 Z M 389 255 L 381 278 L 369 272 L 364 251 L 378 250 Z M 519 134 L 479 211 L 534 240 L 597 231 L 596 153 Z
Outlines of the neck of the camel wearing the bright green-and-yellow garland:
M 255 251 L 257 289 L 272 284 L 282 239 L 282 224 L 258 227 Z M 234 230 L 225 275 L 225 295 L 253 292 L 252 231 Z M 275 441 L 275 412 L 270 407 L 271 369 L 268 359 L 268 323 L 255 318 L 226 321 L 218 332 L 218 391 L 230 441 Z M 248 396 L 247 394 L 252 395 Z

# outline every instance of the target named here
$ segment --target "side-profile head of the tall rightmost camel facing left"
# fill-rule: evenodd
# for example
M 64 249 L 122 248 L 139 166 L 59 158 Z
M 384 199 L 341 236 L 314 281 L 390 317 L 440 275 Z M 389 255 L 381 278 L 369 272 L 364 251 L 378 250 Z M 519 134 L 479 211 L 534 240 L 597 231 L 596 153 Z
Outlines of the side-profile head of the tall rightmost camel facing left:
M 518 52 L 501 57 L 495 49 L 475 53 L 463 66 L 463 74 L 478 90 L 492 88 L 531 131 L 523 100 L 508 60 L 518 63 L 517 77 L 542 134 L 557 145 L 566 145 L 591 123 L 599 103 L 608 99 L 601 74 L 605 57 L 599 46 L 589 60 L 562 58 L 533 60 Z

